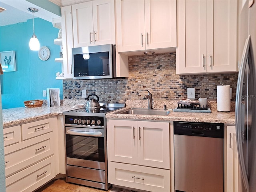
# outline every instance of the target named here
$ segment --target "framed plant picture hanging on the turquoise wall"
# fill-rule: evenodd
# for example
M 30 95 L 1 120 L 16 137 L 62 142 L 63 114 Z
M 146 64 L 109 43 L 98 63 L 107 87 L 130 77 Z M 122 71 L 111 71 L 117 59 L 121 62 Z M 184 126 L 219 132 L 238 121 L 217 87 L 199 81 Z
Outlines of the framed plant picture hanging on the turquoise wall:
M 0 52 L 0 60 L 3 72 L 16 71 L 16 60 L 14 51 Z

